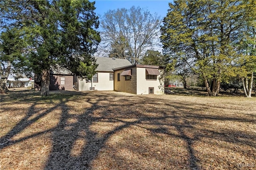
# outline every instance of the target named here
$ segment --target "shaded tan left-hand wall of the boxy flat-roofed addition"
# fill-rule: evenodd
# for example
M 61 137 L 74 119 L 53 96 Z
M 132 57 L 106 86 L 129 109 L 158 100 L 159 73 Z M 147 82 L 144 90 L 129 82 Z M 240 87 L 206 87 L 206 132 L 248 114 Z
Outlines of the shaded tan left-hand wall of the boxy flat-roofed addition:
M 114 73 L 114 90 L 120 92 L 127 92 L 137 94 L 137 76 L 136 67 L 132 69 L 132 80 L 125 80 L 125 76 L 120 76 L 120 81 L 117 81 L 117 74 L 122 73 L 124 70 L 115 71 Z

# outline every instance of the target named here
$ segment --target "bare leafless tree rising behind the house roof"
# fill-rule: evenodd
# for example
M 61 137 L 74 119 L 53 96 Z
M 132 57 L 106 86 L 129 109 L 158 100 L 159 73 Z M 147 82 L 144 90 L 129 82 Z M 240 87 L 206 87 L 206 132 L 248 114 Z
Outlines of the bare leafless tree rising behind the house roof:
M 109 10 L 101 20 L 104 48 L 110 48 L 111 57 L 138 64 L 146 49 L 156 44 L 160 23 L 159 16 L 140 7 Z

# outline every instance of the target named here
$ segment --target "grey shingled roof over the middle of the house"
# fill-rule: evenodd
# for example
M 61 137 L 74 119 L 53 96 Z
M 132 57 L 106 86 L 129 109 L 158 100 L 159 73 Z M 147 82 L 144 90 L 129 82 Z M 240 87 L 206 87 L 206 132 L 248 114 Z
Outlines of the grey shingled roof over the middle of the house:
M 99 64 L 96 71 L 98 72 L 114 72 L 113 68 L 132 65 L 127 59 L 115 59 L 109 57 L 95 57 Z

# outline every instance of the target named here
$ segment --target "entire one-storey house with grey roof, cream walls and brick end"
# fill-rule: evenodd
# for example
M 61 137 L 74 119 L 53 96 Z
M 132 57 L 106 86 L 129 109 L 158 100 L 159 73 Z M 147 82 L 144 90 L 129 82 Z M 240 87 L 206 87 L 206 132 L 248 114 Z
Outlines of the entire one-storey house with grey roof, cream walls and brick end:
M 50 74 L 50 90 L 116 90 L 133 94 L 163 94 L 159 66 L 132 65 L 127 59 L 95 57 L 98 67 L 92 80 L 80 79 L 68 70 Z

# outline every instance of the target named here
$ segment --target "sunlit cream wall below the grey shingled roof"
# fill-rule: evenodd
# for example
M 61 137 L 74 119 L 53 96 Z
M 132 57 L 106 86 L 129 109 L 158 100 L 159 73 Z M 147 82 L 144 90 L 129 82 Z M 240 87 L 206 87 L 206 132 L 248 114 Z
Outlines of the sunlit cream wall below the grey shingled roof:
M 94 90 L 114 90 L 114 80 L 109 80 L 110 72 L 98 72 L 98 82 L 92 82 Z M 86 80 L 79 80 L 79 91 L 90 90 L 91 82 Z

